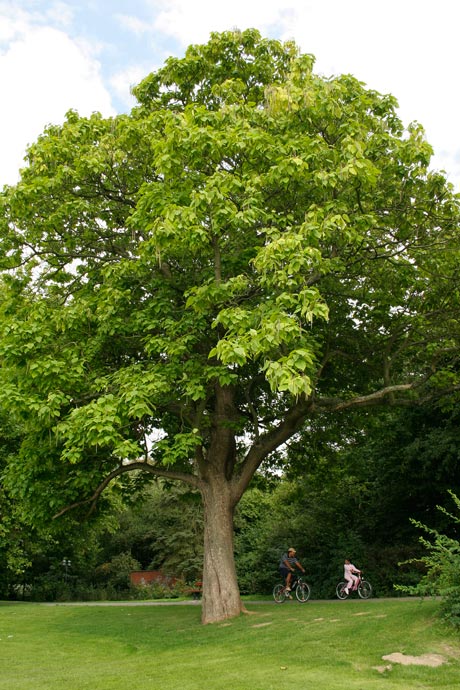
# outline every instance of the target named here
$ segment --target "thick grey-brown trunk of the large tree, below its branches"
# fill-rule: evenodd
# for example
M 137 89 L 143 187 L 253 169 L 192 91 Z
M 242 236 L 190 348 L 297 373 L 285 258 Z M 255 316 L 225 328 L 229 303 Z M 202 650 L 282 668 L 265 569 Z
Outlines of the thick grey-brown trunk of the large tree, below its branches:
M 219 473 L 220 474 L 220 473 Z M 231 483 L 225 476 L 208 475 L 202 487 L 204 562 L 202 623 L 217 623 L 242 610 L 233 553 Z

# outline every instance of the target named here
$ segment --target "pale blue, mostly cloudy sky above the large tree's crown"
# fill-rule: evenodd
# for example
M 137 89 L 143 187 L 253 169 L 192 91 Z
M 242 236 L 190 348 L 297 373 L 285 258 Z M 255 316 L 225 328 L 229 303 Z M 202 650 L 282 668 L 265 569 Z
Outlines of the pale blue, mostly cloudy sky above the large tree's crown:
M 65 113 L 129 112 L 132 85 L 212 31 L 258 29 L 421 123 L 460 192 L 459 0 L 0 0 L 0 189 Z

